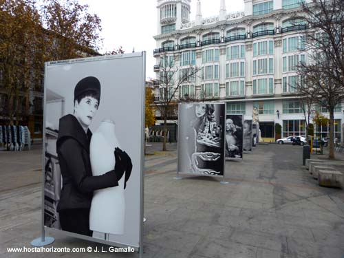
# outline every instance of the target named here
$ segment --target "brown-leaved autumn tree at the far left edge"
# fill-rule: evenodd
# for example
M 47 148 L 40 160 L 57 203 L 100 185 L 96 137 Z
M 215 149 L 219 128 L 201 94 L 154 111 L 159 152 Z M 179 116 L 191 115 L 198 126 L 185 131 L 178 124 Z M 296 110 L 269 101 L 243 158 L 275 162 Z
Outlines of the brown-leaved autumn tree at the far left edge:
M 28 112 L 29 90 L 39 84 L 44 63 L 43 30 L 34 0 L 0 0 L 0 83 L 10 124 Z M 25 110 L 21 110 L 25 103 Z

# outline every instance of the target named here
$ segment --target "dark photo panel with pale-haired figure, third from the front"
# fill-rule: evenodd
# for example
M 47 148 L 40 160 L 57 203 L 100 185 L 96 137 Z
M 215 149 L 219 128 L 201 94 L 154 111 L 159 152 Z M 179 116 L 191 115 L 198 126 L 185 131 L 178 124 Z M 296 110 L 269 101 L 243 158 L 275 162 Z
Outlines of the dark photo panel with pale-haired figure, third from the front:
M 243 149 L 243 116 L 227 114 L 225 129 L 226 159 L 241 159 Z

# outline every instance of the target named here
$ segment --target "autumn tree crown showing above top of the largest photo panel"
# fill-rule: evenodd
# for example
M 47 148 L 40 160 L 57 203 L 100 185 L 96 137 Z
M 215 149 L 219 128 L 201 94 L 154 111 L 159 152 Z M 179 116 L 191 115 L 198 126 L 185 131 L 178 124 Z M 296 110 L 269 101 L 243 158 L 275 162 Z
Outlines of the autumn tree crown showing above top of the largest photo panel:
M 50 0 L 41 6 L 43 26 L 47 30 L 49 60 L 95 55 L 103 39 L 101 20 L 89 14 L 87 5 L 77 0 Z

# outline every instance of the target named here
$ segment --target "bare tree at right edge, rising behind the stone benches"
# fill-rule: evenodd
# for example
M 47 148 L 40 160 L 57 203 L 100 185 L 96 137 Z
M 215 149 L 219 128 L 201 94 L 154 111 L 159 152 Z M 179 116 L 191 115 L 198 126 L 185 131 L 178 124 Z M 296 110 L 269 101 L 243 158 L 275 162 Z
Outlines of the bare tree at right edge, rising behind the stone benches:
M 305 78 L 299 94 L 330 113 L 329 158 L 334 159 L 334 109 L 344 101 L 344 4 L 343 0 L 301 3 L 305 23 L 305 49 L 309 61 L 298 67 Z

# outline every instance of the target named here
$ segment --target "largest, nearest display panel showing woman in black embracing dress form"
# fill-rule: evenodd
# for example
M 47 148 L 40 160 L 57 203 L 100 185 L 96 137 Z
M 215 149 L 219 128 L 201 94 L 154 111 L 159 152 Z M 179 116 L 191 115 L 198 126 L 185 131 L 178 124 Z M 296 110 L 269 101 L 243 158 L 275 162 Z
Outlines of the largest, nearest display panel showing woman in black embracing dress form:
M 43 230 L 142 248 L 144 64 L 145 52 L 45 63 Z

